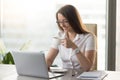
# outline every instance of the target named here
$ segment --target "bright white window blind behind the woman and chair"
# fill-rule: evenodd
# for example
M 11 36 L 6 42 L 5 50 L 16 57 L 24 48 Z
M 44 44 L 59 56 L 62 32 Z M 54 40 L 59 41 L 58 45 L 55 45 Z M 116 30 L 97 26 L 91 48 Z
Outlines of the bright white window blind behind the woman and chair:
M 55 13 L 64 4 L 74 5 L 84 23 L 97 24 L 98 69 L 105 69 L 106 0 L 1 0 L 1 37 L 7 49 L 28 42 L 30 50 L 48 50 L 58 30 Z

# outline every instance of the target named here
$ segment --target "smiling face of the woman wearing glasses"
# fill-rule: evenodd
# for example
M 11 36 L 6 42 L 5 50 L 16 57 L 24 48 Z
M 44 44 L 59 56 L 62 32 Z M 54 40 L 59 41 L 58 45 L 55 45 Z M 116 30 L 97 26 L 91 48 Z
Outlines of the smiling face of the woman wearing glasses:
M 58 21 L 57 23 L 60 25 L 60 27 L 64 31 L 70 32 L 72 30 L 72 27 L 70 26 L 68 20 L 60 13 L 58 13 Z

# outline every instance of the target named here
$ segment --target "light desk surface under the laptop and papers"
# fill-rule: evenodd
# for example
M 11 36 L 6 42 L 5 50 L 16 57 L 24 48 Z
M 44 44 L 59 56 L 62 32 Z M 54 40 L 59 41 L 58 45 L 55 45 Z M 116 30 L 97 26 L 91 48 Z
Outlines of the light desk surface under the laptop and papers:
M 120 72 L 118 71 L 106 71 L 106 72 L 108 73 L 108 75 L 104 78 L 104 80 L 120 80 Z M 0 80 L 48 80 L 48 79 L 18 76 L 14 65 L 0 64 Z M 68 71 L 65 74 L 65 76 L 50 80 L 80 80 L 80 79 L 72 77 L 71 72 Z

